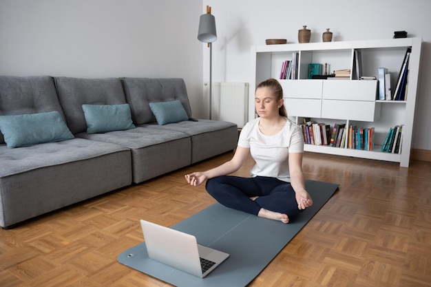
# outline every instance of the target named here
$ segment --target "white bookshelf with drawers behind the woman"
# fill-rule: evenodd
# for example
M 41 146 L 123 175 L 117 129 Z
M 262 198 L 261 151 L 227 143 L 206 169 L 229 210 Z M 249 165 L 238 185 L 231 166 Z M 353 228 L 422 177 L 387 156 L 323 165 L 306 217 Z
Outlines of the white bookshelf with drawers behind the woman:
M 375 148 L 372 151 L 345 149 L 322 145 L 305 145 L 306 151 L 329 153 L 374 160 L 399 162 L 408 167 L 412 143 L 414 109 L 420 70 L 421 38 L 386 39 L 371 41 L 343 41 L 327 43 L 298 43 L 251 46 L 249 120 L 255 115 L 255 87 L 267 78 L 280 78 L 283 61 L 299 55 L 298 79 L 279 80 L 284 91 L 288 116 L 297 123 L 311 118 L 331 127 L 335 123 L 375 128 Z M 308 79 L 308 64 L 328 63 L 328 74 L 333 70 L 354 70 L 355 50 L 361 52 L 362 74 L 375 76 L 379 67 L 386 67 L 391 76 L 392 89 L 396 85 L 407 47 L 411 47 L 406 100 L 376 100 L 377 81 Z M 400 153 L 381 151 L 390 127 L 403 125 Z

